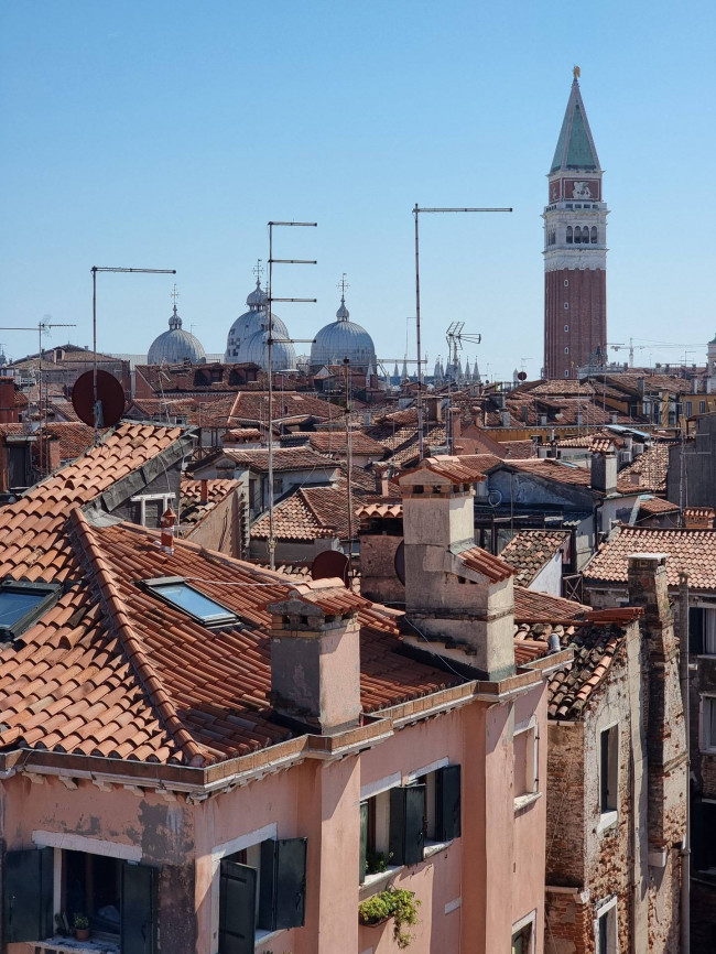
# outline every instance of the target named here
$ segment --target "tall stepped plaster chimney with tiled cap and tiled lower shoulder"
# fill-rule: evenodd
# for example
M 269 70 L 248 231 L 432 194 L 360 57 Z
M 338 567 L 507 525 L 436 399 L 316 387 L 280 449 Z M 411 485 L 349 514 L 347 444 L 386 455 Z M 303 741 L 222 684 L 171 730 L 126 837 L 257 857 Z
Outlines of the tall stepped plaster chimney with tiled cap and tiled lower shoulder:
M 427 639 L 480 677 L 500 680 L 514 673 L 514 571 L 475 545 L 480 478 L 459 457 L 428 457 L 401 476 L 405 615 L 421 633 L 415 646 Z

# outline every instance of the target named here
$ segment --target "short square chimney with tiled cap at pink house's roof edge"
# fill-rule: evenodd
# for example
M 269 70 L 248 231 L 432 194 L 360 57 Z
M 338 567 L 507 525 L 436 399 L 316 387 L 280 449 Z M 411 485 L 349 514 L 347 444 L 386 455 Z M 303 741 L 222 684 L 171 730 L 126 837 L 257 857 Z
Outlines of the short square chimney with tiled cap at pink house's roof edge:
M 360 628 L 364 600 L 336 579 L 322 579 L 272 603 L 271 702 L 274 712 L 321 735 L 360 718 Z

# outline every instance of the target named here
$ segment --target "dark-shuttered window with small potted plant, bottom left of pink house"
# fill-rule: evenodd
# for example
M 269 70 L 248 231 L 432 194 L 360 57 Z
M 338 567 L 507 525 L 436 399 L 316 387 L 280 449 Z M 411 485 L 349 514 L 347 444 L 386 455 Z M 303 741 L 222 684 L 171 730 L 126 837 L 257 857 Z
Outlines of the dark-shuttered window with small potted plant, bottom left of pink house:
M 52 847 L 9 852 L 3 895 L 6 942 L 42 941 L 55 918 L 72 929 L 85 914 L 94 940 L 122 954 L 155 950 L 156 870 L 147 865 Z

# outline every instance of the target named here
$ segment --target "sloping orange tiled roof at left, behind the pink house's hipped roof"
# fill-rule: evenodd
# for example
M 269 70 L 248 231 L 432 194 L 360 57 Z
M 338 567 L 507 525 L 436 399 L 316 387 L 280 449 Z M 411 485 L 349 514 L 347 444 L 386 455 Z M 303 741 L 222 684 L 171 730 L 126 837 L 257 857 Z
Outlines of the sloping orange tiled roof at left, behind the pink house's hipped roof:
M 138 470 L 182 434 L 180 427 L 120 424 L 98 447 L 0 510 L 0 578 L 62 583 L 78 571 L 64 536 L 73 507 Z

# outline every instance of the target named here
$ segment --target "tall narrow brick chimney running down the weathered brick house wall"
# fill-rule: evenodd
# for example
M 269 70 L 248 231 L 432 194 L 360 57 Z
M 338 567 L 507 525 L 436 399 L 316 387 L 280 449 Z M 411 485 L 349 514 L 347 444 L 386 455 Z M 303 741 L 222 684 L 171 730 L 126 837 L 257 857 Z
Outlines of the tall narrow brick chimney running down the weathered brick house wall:
M 649 864 L 663 868 L 685 831 L 687 749 L 679 684 L 679 644 L 669 605 L 668 553 L 631 553 L 629 603 L 643 607 L 648 669 L 644 700 L 648 754 Z M 643 683 L 642 683 L 643 685 Z

